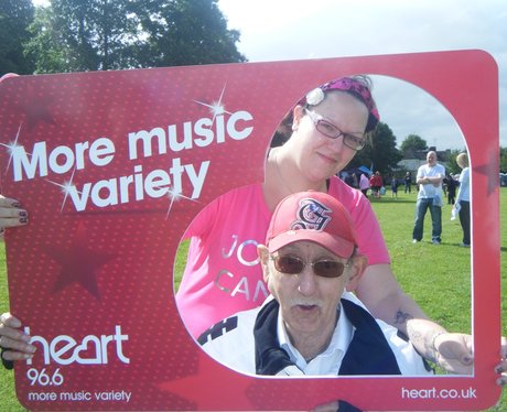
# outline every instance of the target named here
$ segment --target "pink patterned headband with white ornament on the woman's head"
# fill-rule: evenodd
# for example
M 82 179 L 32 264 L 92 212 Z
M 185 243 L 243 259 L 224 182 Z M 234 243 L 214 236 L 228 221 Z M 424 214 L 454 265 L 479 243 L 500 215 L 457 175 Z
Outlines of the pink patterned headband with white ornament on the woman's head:
M 354 95 L 360 101 L 363 101 L 369 111 L 368 123 L 366 124 L 366 132 L 369 132 L 375 129 L 375 127 L 380 120 L 380 115 L 378 113 L 377 106 L 375 105 L 375 100 L 371 97 L 371 93 L 365 84 L 352 77 L 342 77 L 319 86 L 317 88 L 310 91 L 300 101 L 300 105 L 316 106 L 324 100 L 325 91 L 328 90 L 346 91 Z

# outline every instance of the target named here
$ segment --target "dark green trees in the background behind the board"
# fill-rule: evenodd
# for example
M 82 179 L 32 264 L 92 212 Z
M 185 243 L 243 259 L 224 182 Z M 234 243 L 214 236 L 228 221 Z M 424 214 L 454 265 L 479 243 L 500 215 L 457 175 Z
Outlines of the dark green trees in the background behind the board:
M 227 29 L 217 0 L 51 0 L 47 7 L 0 0 L 0 75 L 246 62 L 236 46 L 240 33 Z M 392 130 L 379 123 L 349 167 L 374 164 L 388 174 L 403 156 L 428 150 L 414 134 L 399 150 L 396 145 Z M 459 173 L 453 167 L 451 173 Z M 507 149 L 500 169 L 507 171 Z

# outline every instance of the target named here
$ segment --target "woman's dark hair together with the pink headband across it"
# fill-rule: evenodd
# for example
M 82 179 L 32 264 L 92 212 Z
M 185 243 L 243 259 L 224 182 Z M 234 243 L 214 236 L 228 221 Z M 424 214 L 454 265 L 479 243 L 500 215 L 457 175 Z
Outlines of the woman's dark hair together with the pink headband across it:
M 371 141 L 371 135 L 380 120 L 374 98 L 371 97 L 371 79 L 366 75 L 352 77 L 341 77 L 327 82 L 313 90 L 309 91 L 299 102 L 299 106 L 305 108 L 319 106 L 325 100 L 327 93 L 332 90 L 343 91 L 363 102 L 368 109 L 368 122 L 365 129 L 365 138 Z M 271 147 L 282 145 L 292 134 L 293 110 L 283 117 L 271 141 Z

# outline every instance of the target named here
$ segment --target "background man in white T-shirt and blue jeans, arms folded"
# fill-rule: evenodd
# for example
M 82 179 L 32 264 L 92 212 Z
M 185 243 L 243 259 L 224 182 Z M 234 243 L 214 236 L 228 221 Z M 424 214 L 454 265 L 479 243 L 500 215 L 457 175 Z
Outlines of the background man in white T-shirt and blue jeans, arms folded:
M 428 209 L 430 209 L 432 223 L 431 241 L 433 245 L 440 245 L 442 241 L 442 182 L 444 177 L 445 167 L 436 163 L 436 152 L 428 152 L 427 163 L 419 167 L 416 181 L 420 186 L 412 230 L 413 243 L 422 240 L 424 216 Z

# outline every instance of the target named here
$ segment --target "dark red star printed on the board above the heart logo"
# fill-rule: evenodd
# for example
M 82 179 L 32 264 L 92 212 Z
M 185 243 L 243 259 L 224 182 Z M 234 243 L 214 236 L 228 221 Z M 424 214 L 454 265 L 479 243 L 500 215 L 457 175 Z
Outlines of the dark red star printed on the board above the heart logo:
M 56 260 L 62 269 L 54 285 L 54 292 L 77 282 L 93 296 L 100 300 L 96 271 L 115 257 L 108 253 L 89 250 L 86 242 L 86 230 L 79 225 L 76 237 L 69 247 L 46 247 L 46 254 Z

